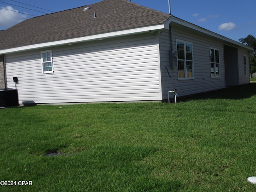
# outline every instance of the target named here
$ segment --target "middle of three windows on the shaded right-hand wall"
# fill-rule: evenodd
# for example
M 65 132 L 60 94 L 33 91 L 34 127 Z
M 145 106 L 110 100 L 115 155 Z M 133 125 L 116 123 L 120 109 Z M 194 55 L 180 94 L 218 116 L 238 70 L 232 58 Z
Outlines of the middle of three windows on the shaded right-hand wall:
M 211 77 L 220 77 L 220 54 L 218 49 L 210 48 Z

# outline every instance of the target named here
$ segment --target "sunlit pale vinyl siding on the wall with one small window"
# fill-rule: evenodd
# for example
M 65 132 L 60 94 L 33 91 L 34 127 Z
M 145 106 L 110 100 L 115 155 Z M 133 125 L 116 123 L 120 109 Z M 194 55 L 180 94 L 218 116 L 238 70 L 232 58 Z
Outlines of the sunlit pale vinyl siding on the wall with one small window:
M 44 50 L 52 74 L 42 74 Z M 7 86 L 18 77 L 21 104 L 160 100 L 158 59 L 155 34 L 7 54 Z

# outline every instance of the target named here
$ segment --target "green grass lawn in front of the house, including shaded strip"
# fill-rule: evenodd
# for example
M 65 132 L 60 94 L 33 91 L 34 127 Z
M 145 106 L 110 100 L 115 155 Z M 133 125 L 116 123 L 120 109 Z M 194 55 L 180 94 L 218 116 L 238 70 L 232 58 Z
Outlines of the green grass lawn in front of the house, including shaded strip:
M 178 104 L 59 107 L 0 110 L 0 180 L 17 182 L 0 191 L 256 190 L 256 84 Z

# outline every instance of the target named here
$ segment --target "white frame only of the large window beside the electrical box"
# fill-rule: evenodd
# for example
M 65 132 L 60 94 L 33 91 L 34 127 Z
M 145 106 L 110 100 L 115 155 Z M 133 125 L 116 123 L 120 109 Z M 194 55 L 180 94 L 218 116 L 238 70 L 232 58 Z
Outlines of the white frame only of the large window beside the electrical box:
M 179 59 L 178 56 L 178 42 L 184 43 L 184 59 Z M 192 46 L 192 60 L 188 60 L 187 56 L 186 56 L 186 44 L 191 44 Z M 178 80 L 190 80 L 190 79 L 194 79 L 194 51 L 193 51 L 193 43 L 192 42 L 188 42 L 188 41 L 184 41 L 184 40 L 180 40 L 180 39 L 176 39 L 176 50 L 177 50 L 177 73 L 178 73 Z M 184 78 L 180 78 L 179 77 L 179 61 L 183 61 L 184 62 Z M 188 77 L 187 76 L 187 67 L 186 67 L 186 63 L 187 62 L 192 62 L 192 72 L 191 75 L 192 77 Z

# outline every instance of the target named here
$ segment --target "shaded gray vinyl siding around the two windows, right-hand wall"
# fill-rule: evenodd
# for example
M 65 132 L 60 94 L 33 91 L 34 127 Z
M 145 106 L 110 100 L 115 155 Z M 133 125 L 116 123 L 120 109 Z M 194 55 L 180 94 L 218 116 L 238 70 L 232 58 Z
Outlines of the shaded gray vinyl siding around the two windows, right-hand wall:
M 162 35 L 161 38 L 162 40 L 160 42 L 167 42 L 170 39 L 169 32 L 168 35 Z M 167 99 L 167 92 L 169 90 L 174 90 L 174 88 L 177 89 L 178 96 L 185 96 L 225 88 L 223 43 L 218 42 L 215 39 L 212 40 L 209 38 L 204 38 L 200 35 L 172 28 L 172 47 L 174 51 L 176 51 L 177 39 L 191 42 L 193 44 L 194 79 L 178 80 L 177 67 L 170 69 L 169 62 L 162 62 L 161 74 L 163 99 Z M 167 56 L 167 51 L 170 50 L 170 47 L 168 48 L 166 44 L 163 46 L 161 45 L 160 47 L 162 48 L 162 54 Z M 220 78 L 211 78 L 210 48 L 219 50 Z M 172 76 L 171 78 L 168 76 L 165 66 L 168 68 L 170 75 Z M 171 94 L 171 96 L 173 97 L 173 94 Z

